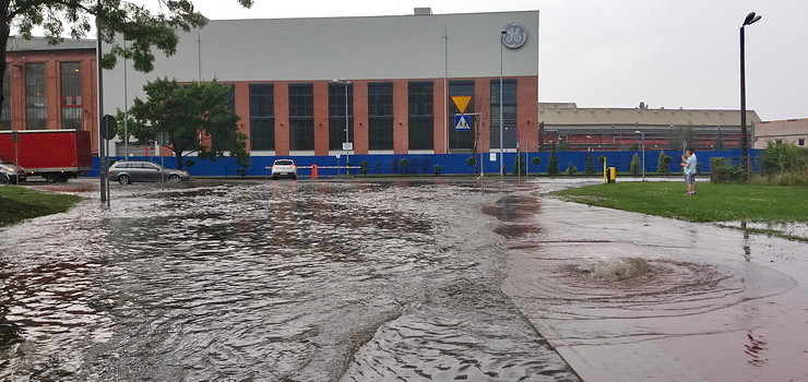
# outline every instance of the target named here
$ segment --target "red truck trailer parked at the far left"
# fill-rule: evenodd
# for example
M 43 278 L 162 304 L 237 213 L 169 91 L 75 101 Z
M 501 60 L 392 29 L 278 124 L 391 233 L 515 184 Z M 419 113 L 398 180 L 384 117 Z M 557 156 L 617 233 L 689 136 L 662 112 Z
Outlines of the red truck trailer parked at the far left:
M 90 132 L 82 130 L 0 131 L 0 155 L 16 162 L 28 176 L 51 183 L 66 182 L 93 167 Z

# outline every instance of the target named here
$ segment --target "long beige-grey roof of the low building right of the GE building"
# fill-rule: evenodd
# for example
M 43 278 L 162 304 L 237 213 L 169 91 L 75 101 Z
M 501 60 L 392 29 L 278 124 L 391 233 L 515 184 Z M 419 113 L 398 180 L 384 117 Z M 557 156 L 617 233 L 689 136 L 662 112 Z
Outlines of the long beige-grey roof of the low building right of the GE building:
M 583 108 L 573 103 L 539 103 L 538 120 L 545 126 L 740 126 L 740 110 Z M 747 121 L 760 123 L 753 110 Z

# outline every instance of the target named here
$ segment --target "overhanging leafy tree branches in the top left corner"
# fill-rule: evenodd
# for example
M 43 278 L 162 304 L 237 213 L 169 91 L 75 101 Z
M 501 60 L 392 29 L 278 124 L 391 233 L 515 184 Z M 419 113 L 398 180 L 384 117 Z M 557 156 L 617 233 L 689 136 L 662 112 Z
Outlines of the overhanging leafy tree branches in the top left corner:
M 236 0 L 252 7 L 253 0 Z M 171 56 L 177 51 L 177 32 L 189 32 L 207 23 L 207 19 L 193 8 L 192 0 L 159 0 L 159 13 L 152 13 L 146 5 L 121 0 L 4 0 L 0 1 L 0 87 L 8 63 L 5 48 L 11 26 L 23 38 L 41 29 L 51 45 L 59 44 L 68 34 L 82 38 L 93 28 L 91 19 L 100 25 L 100 39 L 110 49 L 102 57 L 100 65 L 112 69 L 118 57 L 132 60 L 134 69 L 151 72 L 154 69 L 153 47 Z M 115 36 L 126 36 L 129 44 Z M 2 105 L 0 95 L 0 105 Z

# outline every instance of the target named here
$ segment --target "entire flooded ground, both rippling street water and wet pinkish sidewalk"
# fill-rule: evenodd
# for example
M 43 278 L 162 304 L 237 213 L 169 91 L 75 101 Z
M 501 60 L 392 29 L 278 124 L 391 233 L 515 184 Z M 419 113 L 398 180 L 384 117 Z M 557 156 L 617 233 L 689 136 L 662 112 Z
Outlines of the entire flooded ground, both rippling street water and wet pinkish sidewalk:
M 586 182 L 114 186 L 0 231 L 0 380 L 808 380 L 808 244 Z

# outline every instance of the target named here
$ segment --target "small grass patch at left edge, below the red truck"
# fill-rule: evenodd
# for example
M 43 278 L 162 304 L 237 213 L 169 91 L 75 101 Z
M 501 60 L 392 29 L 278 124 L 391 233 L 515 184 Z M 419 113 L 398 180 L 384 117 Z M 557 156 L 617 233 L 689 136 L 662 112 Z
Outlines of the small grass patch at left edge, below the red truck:
M 80 196 L 47 193 L 24 187 L 0 187 L 0 227 L 70 210 Z

